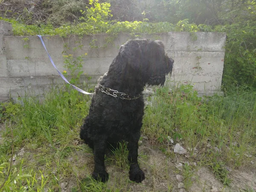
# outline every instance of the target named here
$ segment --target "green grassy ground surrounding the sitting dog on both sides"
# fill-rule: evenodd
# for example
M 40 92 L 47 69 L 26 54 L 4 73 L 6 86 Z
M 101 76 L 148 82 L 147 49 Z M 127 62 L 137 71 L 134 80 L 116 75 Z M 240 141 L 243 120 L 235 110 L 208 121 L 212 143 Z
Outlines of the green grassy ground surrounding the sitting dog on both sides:
M 0 186 L 8 176 L 5 191 L 172 191 L 177 189 L 173 177 L 180 174 L 189 190 L 195 167 L 185 164 L 183 171 L 175 168 L 171 160 L 183 157 L 173 153 L 170 137 L 191 149 L 187 160 L 209 167 L 224 185 L 232 182 L 227 167 L 253 169 L 255 92 L 200 98 L 192 86 L 182 85 L 173 91 L 157 88 L 151 102 L 152 106 L 145 109 L 142 129 L 147 139 L 141 139 L 139 151 L 139 163 L 146 172 L 145 183 L 141 184 L 128 179 L 124 143 L 106 155 L 110 181 L 91 179 L 93 153 L 79 139 L 89 96 L 75 90 L 52 89 L 41 102 L 26 97 L 20 99 L 22 105 L 2 104 L 0 121 L 5 131 L 1 131 L 0 140 Z M 25 153 L 18 155 L 21 148 Z M 12 154 L 15 160 L 10 165 Z

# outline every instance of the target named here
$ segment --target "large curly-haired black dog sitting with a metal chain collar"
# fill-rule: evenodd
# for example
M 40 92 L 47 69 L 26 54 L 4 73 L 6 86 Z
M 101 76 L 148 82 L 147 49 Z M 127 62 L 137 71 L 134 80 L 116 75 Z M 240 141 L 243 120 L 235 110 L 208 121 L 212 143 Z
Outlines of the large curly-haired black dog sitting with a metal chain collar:
M 130 180 L 140 183 L 145 179 L 137 160 L 144 114 L 142 91 L 146 84 L 163 85 L 173 62 L 161 41 L 135 39 L 120 47 L 108 73 L 99 79 L 81 126 L 81 139 L 94 151 L 94 179 L 108 180 L 105 149 L 121 140 L 128 142 Z

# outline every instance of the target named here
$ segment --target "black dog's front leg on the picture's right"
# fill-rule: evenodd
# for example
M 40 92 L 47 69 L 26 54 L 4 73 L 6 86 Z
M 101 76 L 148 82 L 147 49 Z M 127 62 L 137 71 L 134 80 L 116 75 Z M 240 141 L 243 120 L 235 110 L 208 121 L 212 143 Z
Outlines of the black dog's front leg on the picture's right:
M 127 148 L 129 150 L 128 160 L 129 163 L 131 164 L 129 178 L 130 180 L 135 181 L 136 183 L 140 183 L 145 179 L 145 175 L 138 164 L 138 141 L 140 138 L 140 134 L 138 135 L 139 137 L 132 138 L 131 140 L 129 140 L 127 145 Z

